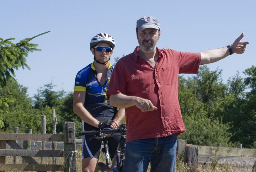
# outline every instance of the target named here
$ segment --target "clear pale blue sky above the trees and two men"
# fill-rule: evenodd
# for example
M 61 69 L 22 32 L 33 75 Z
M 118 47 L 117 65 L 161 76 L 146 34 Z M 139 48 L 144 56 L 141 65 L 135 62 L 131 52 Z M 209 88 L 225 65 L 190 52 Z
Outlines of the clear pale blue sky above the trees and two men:
M 109 33 L 116 42 L 114 57 L 133 52 L 138 45 L 135 26 L 143 15 L 158 18 L 161 25 L 159 48 L 183 52 L 202 52 L 224 47 L 242 32 L 249 41 L 246 52 L 234 54 L 216 63 L 210 70 L 223 70 L 224 83 L 252 65 L 256 65 L 256 1 L 199 0 L 8 0 L 0 1 L 0 37 L 19 40 L 37 37 L 41 52 L 30 53 L 31 70 L 19 69 L 16 79 L 28 87 L 29 96 L 51 81 L 55 90 L 73 91 L 76 73 L 93 60 L 90 39 L 100 32 Z

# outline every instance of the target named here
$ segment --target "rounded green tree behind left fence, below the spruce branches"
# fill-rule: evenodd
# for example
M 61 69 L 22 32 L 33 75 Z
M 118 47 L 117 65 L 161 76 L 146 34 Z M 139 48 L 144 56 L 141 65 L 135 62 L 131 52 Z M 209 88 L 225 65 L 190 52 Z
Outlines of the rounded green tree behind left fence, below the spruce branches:
M 0 88 L 0 95 L 12 92 L 12 99 L 8 98 L 9 113 L 2 113 L 4 127 L 0 132 L 12 133 L 14 127 L 20 127 L 20 132 L 30 128 L 33 133 L 40 133 L 40 111 L 32 107 L 32 99 L 27 95 L 27 88 L 19 85 L 17 81 L 7 81 L 6 84 L 6 87 Z

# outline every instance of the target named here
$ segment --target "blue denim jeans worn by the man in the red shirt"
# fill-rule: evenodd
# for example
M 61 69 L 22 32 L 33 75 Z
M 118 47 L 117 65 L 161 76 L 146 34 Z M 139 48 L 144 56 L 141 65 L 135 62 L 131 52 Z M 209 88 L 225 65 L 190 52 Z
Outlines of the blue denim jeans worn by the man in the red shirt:
M 123 172 L 173 172 L 177 134 L 161 138 L 129 141 L 126 144 Z

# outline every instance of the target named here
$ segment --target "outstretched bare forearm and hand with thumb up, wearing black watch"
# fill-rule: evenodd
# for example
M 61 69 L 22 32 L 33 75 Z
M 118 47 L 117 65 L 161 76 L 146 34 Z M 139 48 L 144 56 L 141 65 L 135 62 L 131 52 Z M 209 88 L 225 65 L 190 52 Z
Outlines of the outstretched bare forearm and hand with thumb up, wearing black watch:
M 231 52 L 236 54 L 242 54 L 245 52 L 246 45 L 249 42 L 243 42 L 241 39 L 244 37 L 244 32 L 234 41 L 233 44 L 230 45 Z M 211 49 L 201 52 L 201 62 L 200 64 L 209 64 L 214 63 L 215 61 L 219 61 L 225 57 L 230 55 L 230 50 L 228 47 L 218 48 L 218 49 Z

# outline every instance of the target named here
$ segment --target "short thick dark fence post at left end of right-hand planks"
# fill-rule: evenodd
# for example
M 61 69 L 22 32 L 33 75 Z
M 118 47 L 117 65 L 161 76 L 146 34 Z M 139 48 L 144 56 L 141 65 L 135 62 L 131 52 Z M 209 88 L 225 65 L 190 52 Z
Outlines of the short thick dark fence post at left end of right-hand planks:
M 198 146 L 186 146 L 184 162 L 187 166 L 197 165 L 198 163 Z

